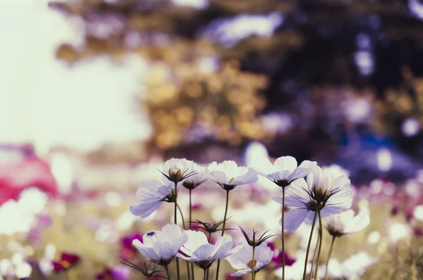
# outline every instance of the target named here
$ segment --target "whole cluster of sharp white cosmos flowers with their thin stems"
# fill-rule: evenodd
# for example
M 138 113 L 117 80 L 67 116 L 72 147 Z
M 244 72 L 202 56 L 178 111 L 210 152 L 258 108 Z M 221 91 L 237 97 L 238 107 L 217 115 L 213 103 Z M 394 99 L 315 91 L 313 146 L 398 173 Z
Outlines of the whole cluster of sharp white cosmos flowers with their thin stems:
M 226 259 L 237 270 L 231 276 L 242 276 L 251 273 L 252 279 L 255 279 L 255 274 L 266 268 L 266 265 L 274 260 L 275 255 L 282 256 L 282 264 L 274 265 L 273 269 L 281 267 L 282 278 L 285 279 L 285 268 L 288 265 L 293 265 L 293 262 L 290 261 L 286 264 L 284 231 L 297 231 L 303 222 L 312 226 L 303 262 L 305 265 L 303 279 L 305 279 L 307 274 L 314 274 L 314 279 L 317 279 L 317 275 L 319 275 L 323 224 L 329 234 L 333 236 L 328 262 L 335 238 L 359 231 L 369 224 L 368 212 L 362 212 L 354 216 L 353 210 L 350 210 L 353 204 L 353 192 L 350 189 L 348 175 L 341 169 L 331 167 L 322 169 L 317 163 L 308 160 L 298 165 L 295 158 L 290 156 L 278 158 L 273 164 L 268 158 L 256 158 L 250 163 L 249 167 L 241 167 L 231 160 L 219 164 L 214 162 L 208 166 L 201 166 L 190 160 L 172 158 L 164 163 L 164 167 L 159 170 L 159 174 L 161 174 L 159 179 L 142 182 L 138 186 L 137 198 L 140 199 L 140 204 L 131 206 L 130 212 L 133 215 L 145 218 L 157 210 L 162 203 L 173 203 L 174 224 L 166 224 L 161 231 L 148 231 L 142 238 L 134 238 L 132 244 L 150 262 L 164 267 L 168 279 L 171 278 L 168 266 L 173 260 L 176 260 L 177 277 L 180 279 L 178 259 L 187 261 L 188 280 L 194 279 L 195 270 L 193 269 L 193 264 L 203 269 L 204 279 L 208 279 L 209 269 L 215 260 L 217 260 L 216 279 L 219 279 L 221 259 Z M 267 231 L 256 239 L 255 234 L 257 232 L 253 230 L 253 236 L 250 239 L 246 231 L 240 227 L 247 243 L 238 243 L 236 246 L 234 246 L 232 237 L 225 234 L 229 193 L 236 186 L 257 182 L 258 175 L 281 187 L 282 196 L 273 198 L 274 201 L 282 204 L 282 219 L 280 221 L 282 226 L 282 250 L 278 253 L 274 252 L 271 246 L 264 242 L 275 235 L 265 236 Z M 206 182 L 208 182 L 207 185 L 215 184 L 226 191 L 226 206 L 221 222 L 214 222 L 212 229 L 207 230 L 209 229 L 209 223 L 196 220 L 198 224 L 207 227 L 207 229 L 203 227 L 197 227 L 196 229 L 205 229 L 209 236 L 202 231 L 192 230 L 191 192 L 195 191 L 199 186 L 205 185 Z M 188 229 L 185 228 L 183 212 L 178 205 L 180 186 L 183 186 L 189 192 L 190 219 L 188 221 Z M 288 207 L 288 212 L 286 212 L 286 207 Z M 178 210 L 180 217 L 182 217 L 182 229 L 177 221 Z M 315 264 L 313 270 L 313 267 L 312 269 L 307 269 L 307 263 L 309 262 L 312 234 L 316 226 L 319 229 L 319 238 L 316 246 L 318 253 L 316 261 L 312 262 L 312 264 Z M 215 242 L 212 242 L 212 234 L 217 232 L 219 232 L 220 236 L 219 238 L 214 238 Z M 288 258 L 288 260 L 290 259 Z M 268 269 L 271 269 L 271 267 L 269 265 Z M 146 272 L 145 275 L 149 278 L 150 274 Z M 289 276 L 287 275 L 288 278 Z

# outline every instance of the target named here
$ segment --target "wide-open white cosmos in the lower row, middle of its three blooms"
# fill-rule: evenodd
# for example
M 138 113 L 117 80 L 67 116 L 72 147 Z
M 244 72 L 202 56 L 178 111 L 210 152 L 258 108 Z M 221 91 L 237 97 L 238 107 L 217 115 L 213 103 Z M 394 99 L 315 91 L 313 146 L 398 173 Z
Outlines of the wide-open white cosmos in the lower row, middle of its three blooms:
M 233 247 L 232 237 L 224 235 L 217 239 L 216 244 L 210 244 L 207 237 L 201 231 L 185 231 L 188 241 L 180 248 L 183 254 L 178 253 L 176 257 L 189 262 L 195 262 L 199 267 L 205 269 L 212 265 L 214 260 L 228 257 L 237 253 L 243 248 L 242 245 Z

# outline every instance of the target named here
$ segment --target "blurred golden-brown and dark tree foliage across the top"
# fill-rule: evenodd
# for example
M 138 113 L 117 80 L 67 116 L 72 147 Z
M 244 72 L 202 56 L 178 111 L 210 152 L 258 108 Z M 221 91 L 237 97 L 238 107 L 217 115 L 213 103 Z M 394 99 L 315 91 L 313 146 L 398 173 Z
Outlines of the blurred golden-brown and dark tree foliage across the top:
M 58 58 L 74 63 L 130 51 L 153 69 L 164 68 L 166 77 L 149 77 L 149 94 L 140 99 L 152 116 L 153 142 L 165 149 L 199 133 L 236 145 L 259 139 L 266 128 L 256 117 L 264 109 L 288 111 L 295 127 L 290 136 L 302 139 L 293 147 L 271 146 L 271 153 L 293 148 L 290 154 L 309 158 L 342 139 L 340 124 L 348 131 L 342 112 L 340 124 L 333 124 L 343 98 L 362 99 L 364 89 L 388 101 L 385 91 L 403 83 L 404 65 L 423 74 L 418 0 L 70 0 L 50 6 L 82 23 L 83 43 L 65 42 Z M 233 60 L 239 68 L 227 63 Z M 343 97 L 331 102 L 328 90 Z M 216 131 L 207 122 L 217 124 Z M 264 138 L 268 134 L 280 136 L 273 131 Z

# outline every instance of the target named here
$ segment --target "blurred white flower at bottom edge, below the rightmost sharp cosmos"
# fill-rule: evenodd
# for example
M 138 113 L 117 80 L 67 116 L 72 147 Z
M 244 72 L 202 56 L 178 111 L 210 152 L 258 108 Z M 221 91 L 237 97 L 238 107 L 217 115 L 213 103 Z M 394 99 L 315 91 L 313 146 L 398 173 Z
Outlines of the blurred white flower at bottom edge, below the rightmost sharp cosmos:
M 366 271 L 367 267 L 374 265 L 378 260 L 377 257 L 371 257 L 366 252 L 351 255 L 342 263 L 331 258 L 328 265 L 328 276 L 331 278 L 355 279 L 360 277 Z M 325 273 L 326 265 L 322 265 L 319 268 L 319 278 L 323 279 Z

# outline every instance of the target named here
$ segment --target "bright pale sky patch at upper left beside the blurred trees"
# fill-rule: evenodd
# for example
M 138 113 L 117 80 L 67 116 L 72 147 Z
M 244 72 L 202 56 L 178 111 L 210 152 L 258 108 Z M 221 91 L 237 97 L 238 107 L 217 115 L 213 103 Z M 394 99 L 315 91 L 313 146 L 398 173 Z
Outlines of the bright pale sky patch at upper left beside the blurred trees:
M 0 0 L 0 144 L 87 151 L 147 138 L 148 121 L 133 102 L 145 61 L 97 57 L 71 68 L 56 61 L 56 46 L 78 42 L 80 32 L 46 3 Z

